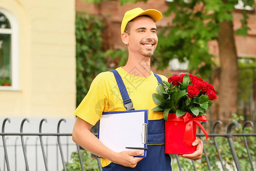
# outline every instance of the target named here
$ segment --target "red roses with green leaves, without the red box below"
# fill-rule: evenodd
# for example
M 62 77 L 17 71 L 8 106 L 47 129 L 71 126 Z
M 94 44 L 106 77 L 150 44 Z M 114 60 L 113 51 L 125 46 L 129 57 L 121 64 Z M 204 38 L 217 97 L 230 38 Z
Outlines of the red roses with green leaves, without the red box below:
M 206 115 L 213 100 L 217 99 L 214 87 L 204 82 L 200 77 L 191 74 L 173 75 L 153 93 L 157 107 L 152 111 L 163 111 L 163 119 L 168 119 L 169 113 L 177 117 L 190 113 L 194 116 Z

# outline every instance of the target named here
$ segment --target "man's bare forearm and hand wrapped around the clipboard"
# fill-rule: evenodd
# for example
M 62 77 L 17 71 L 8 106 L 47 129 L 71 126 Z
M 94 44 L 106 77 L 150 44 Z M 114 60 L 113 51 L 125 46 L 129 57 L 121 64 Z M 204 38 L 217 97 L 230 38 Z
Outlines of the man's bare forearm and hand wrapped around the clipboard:
M 115 164 L 126 167 L 135 168 L 137 163 L 143 159 L 140 157 L 133 157 L 143 154 L 143 152 L 139 150 L 117 153 L 107 148 L 99 139 L 97 139 L 97 137 L 93 135 L 93 133 L 91 133 L 91 127 L 93 127 L 93 125 L 77 117 L 72 133 L 73 141 L 97 156 L 107 158 Z

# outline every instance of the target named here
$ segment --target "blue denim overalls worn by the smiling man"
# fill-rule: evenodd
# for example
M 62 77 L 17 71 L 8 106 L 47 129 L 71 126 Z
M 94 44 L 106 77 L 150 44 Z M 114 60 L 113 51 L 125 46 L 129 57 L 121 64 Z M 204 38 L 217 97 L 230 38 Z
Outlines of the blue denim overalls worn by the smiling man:
M 114 73 L 117 81 L 119 91 L 121 92 L 123 105 L 127 111 L 134 110 L 133 103 L 127 93 L 125 84 L 119 73 L 116 70 L 110 72 Z M 158 83 L 162 83 L 162 79 L 154 74 Z M 138 162 L 135 168 L 127 168 L 111 162 L 109 165 L 103 167 L 103 170 L 171 170 L 171 158 L 169 154 L 165 154 L 165 122 L 160 120 L 149 120 L 147 136 L 147 156 Z

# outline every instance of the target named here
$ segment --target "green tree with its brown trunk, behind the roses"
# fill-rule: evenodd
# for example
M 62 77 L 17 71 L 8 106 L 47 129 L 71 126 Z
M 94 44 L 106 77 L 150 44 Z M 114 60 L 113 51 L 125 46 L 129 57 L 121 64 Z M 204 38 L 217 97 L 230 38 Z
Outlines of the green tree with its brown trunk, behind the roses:
M 107 0 L 84 0 L 96 2 Z M 121 4 L 146 0 L 120 0 Z M 252 7 L 254 0 L 242 1 L 244 6 Z M 173 0 L 168 3 L 165 15 L 175 14 L 169 27 L 159 34 L 159 44 L 155 53 L 159 68 L 165 68 L 170 59 L 189 61 L 189 71 L 209 76 L 213 68 L 220 67 L 220 86 L 218 91 L 219 113 L 237 112 L 238 63 L 234 34 L 246 36 L 247 11 L 243 11 L 242 27 L 234 32 L 233 10 L 238 0 Z M 209 54 L 208 42 L 217 40 L 220 66 L 214 63 Z M 219 119 L 227 117 L 219 115 Z

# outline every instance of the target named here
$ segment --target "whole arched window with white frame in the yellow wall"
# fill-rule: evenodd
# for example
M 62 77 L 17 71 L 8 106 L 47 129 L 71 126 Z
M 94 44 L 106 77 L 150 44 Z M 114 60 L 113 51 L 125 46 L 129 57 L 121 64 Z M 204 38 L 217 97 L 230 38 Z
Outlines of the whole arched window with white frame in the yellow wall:
M 0 9 L 0 90 L 18 88 L 17 43 L 17 22 Z

